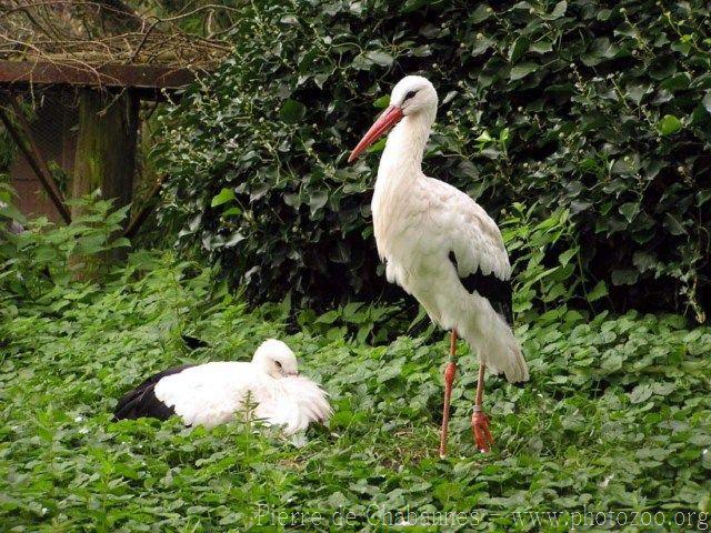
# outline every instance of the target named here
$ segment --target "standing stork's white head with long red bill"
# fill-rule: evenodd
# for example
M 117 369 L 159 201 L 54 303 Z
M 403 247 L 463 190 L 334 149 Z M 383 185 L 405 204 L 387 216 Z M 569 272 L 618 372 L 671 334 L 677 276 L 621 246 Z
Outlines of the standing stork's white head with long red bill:
M 390 105 L 353 149 L 348 162 L 354 161 L 358 155 L 390 131 L 403 117 L 425 115 L 428 120 L 434 120 L 435 113 L 437 91 L 430 80 L 421 76 L 405 76 L 392 88 Z

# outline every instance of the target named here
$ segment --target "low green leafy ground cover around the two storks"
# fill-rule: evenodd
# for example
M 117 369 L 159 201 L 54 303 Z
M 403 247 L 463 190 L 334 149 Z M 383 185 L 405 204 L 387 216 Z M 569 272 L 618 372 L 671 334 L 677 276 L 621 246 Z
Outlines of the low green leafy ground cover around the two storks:
M 384 531 L 402 517 L 419 524 L 408 531 L 572 527 L 515 514 L 528 511 L 624 513 L 627 531 L 707 524 L 709 328 L 634 313 L 565 322 L 554 311 L 519 328 L 531 382 L 488 379 L 497 445 L 485 455 L 469 426 L 477 363 L 460 343 L 442 461 L 443 333 L 377 346 L 344 329 L 286 334 L 279 305 L 248 312 L 212 294 L 208 271 L 142 261 L 104 289 L 72 285 L 4 310 L 0 530 Z M 188 351 L 183 331 L 211 346 Z M 212 431 L 110 421 L 147 374 L 244 360 L 269 336 L 331 393 L 328 428 L 283 440 L 246 420 Z

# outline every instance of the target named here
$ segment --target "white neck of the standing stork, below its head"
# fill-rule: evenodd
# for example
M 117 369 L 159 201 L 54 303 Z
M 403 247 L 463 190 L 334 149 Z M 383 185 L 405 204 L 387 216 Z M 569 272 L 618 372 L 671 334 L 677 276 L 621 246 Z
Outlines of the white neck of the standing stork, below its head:
M 437 108 L 404 117 L 388 135 L 380 158 L 378 181 L 415 178 L 422 174 L 422 155 Z

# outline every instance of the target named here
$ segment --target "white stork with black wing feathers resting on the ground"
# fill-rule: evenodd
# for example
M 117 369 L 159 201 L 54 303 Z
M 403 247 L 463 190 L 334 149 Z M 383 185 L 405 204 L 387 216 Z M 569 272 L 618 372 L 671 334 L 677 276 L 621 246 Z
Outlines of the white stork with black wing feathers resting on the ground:
M 283 425 L 290 435 L 311 422 L 326 422 L 331 413 L 327 393 L 299 375 L 297 358 L 281 341 L 264 341 L 252 361 L 186 364 L 156 374 L 127 393 L 116 406 L 114 419 L 173 414 L 186 425 L 213 428 L 233 420 L 248 394 L 254 416 Z

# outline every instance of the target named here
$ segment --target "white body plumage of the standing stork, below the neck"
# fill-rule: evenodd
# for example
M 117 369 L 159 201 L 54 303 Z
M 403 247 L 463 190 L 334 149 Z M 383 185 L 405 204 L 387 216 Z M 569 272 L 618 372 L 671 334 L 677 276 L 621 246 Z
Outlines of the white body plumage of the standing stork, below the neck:
M 527 380 L 525 361 L 505 319 L 460 281 L 478 270 L 503 281 L 510 278 L 499 229 L 453 187 L 424 175 L 412 181 L 390 179 L 381 194 L 378 189 L 385 181 L 379 178 L 375 184 L 373 222 L 375 227 L 389 222 L 387 230 L 375 231 L 388 281 L 417 298 L 435 323 L 457 329 L 493 373 L 503 372 L 511 382 Z M 389 209 L 393 203 L 401 208 Z

